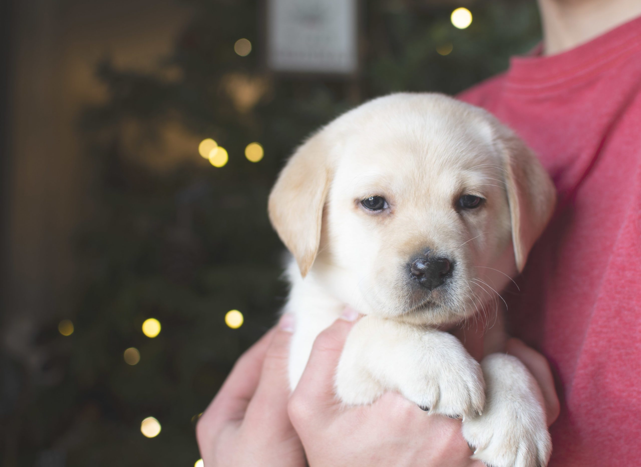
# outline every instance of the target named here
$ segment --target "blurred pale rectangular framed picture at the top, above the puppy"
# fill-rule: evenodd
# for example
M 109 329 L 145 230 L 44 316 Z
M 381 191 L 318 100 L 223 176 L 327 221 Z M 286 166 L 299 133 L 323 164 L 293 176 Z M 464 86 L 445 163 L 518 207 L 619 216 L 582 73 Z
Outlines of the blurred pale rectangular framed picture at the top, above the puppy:
M 356 74 L 358 0 L 267 0 L 266 6 L 270 70 Z

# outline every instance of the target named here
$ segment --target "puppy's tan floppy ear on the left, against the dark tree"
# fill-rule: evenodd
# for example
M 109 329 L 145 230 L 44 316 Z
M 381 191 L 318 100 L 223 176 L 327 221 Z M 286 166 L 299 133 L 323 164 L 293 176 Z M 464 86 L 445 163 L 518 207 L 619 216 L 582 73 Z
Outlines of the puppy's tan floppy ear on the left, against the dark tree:
M 329 147 L 322 131 L 290 158 L 269 195 L 269 220 L 305 277 L 319 250 L 329 189 Z

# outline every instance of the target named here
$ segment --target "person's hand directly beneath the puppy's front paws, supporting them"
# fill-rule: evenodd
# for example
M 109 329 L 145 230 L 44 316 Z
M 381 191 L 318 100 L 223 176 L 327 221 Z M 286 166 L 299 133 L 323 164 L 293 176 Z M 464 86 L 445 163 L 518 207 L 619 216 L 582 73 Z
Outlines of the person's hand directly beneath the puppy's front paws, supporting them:
M 288 404 L 310 466 L 484 467 L 469 458 L 460 420 L 428 415 L 396 393 L 371 406 L 346 408 L 337 402 L 333 377 L 352 325 L 339 319 L 318 336 Z M 520 341 L 511 340 L 509 348 L 541 385 L 553 422 L 558 400 L 547 362 Z

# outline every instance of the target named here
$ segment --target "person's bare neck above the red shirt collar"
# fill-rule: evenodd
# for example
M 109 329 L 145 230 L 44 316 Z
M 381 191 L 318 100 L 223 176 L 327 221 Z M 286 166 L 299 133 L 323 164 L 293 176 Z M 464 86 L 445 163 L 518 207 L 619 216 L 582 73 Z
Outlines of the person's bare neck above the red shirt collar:
M 639 0 L 538 0 L 544 54 L 584 44 L 641 15 Z

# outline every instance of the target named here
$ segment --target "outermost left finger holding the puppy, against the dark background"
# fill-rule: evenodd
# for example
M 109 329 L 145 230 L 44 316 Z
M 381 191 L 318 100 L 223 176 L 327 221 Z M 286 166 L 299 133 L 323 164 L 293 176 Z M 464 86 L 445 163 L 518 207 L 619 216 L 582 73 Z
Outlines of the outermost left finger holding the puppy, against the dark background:
M 243 417 L 258 386 L 260 369 L 273 335 L 274 329 L 271 329 L 240 356 L 218 394 L 203 412 L 199 426 L 207 425 L 215 429 L 214 425 Z

